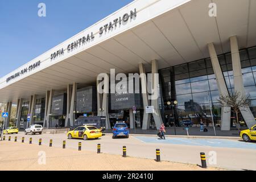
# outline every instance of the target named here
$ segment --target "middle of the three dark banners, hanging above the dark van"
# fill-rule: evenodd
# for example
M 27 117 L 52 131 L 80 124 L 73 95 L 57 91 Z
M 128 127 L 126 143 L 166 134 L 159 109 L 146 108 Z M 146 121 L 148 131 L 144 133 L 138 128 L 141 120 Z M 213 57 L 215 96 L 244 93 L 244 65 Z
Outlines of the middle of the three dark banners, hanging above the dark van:
M 77 90 L 76 110 L 79 113 L 90 113 L 97 111 L 96 86 L 88 86 Z

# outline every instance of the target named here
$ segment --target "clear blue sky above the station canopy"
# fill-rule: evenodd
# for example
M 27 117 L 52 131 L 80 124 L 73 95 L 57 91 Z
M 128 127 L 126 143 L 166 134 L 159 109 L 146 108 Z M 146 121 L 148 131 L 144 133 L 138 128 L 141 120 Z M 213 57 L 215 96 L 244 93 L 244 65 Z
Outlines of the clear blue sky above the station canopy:
M 46 17 L 38 4 L 46 4 Z M 0 77 L 132 0 L 0 0 Z

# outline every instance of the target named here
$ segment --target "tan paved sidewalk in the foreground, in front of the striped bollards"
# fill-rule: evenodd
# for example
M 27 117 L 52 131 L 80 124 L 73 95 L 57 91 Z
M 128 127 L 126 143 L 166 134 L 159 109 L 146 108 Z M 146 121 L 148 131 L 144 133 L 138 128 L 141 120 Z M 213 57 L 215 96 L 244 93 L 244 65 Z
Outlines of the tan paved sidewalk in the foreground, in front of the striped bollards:
M 45 152 L 45 153 L 44 153 Z M 42 154 L 46 154 L 46 164 Z M 122 164 L 122 165 L 121 165 Z M 56 171 L 122 171 L 122 170 L 208 170 L 218 171 L 219 168 L 203 169 L 192 164 L 172 162 L 155 162 L 152 159 L 133 158 L 121 155 L 96 154 L 90 151 L 78 151 L 69 148 L 38 146 L 36 144 L 14 141 L 0 142 L 0 171 L 6 170 L 56 170 Z

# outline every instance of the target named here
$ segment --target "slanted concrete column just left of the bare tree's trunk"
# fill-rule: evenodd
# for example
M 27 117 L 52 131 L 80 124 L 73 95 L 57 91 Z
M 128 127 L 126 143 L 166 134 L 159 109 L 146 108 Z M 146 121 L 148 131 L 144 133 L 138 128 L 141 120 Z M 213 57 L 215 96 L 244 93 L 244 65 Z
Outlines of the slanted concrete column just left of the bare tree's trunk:
M 214 48 L 214 44 L 208 44 L 208 50 L 210 54 L 210 60 L 212 61 L 212 67 L 214 75 L 216 77 L 218 92 L 220 96 L 228 95 L 228 89 L 226 88 L 226 82 L 221 71 L 220 63 L 218 61 L 217 53 Z M 230 130 L 230 107 L 221 107 L 221 130 Z

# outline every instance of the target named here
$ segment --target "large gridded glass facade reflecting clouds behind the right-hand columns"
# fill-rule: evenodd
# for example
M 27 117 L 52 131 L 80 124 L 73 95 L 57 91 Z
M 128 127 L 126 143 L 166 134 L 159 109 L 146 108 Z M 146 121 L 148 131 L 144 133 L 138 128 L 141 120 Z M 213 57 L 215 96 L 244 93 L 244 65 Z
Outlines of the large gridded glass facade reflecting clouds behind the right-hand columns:
M 243 84 L 246 94 L 251 96 L 250 109 L 256 117 L 256 47 L 242 49 L 240 57 Z M 234 81 L 231 53 L 219 55 L 218 60 L 226 86 L 232 94 Z M 163 118 L 167 126 L 171 120 L 179 126 L 181 121 L 187 119 L 199 124 L 200 118 L 210 126 L 212 125 L 210 106 L 212 106 L 214 123 L 220 125 L 221 105 L 217 101 L 219 92 L 210 58 L 165 68 L 159 73 L 164 101 Z M 173 104 L 175 100 L 177 105 Z

